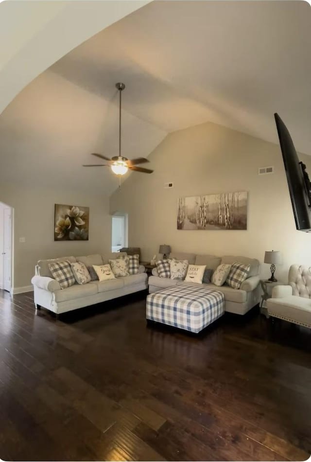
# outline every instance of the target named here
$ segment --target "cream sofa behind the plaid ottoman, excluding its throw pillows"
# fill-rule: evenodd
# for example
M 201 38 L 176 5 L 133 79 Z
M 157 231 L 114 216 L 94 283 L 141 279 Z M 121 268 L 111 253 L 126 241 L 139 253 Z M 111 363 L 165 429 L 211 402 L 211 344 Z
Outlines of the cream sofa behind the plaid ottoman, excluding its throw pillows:
M 215 270 L 221 263 L 231 264 L 241 262 L 250 264 L 249 277 L 242 283 L 240 289 L 233 289 L 228 285 L 218 287 L 214 284 L 203 284 L 212 290 L 217 290 L 225 295 L 225 311 L 243 315 L 247 313 L 253 306 L 260 301 L 260 285 L 259 285 L 259 261 L 247 257 L 224 256 L 217 257 L 215 255 L 196 255 L 194 253 L 172 252 L 170 258 L 177 260 L 188 260 L 190 265 L 206 265 L 207 268 Z M 169 278 L 160 278 L 157 275 L 156 269 L 152 270 L 152 276 L 149 277 L 149 293 L 157 292 L 166 287 L 171 287 L 177 284 L 186 284 L 202 287 L 202 284 L 187 283 Z

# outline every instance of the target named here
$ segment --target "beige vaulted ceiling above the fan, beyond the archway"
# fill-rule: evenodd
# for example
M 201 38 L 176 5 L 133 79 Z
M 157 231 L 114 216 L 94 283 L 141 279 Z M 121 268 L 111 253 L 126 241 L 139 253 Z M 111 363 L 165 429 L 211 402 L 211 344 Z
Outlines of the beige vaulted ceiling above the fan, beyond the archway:
M 111 193 L 108 169 L 81 165 L 94 150 L 117 154 L 118 81 L 128 158 L 207 121 L 277 142 L 274 112 L 311 154 L 310 30 L 301 1 L 153 1 L 69 52 L 7 107 L 1 175 Z

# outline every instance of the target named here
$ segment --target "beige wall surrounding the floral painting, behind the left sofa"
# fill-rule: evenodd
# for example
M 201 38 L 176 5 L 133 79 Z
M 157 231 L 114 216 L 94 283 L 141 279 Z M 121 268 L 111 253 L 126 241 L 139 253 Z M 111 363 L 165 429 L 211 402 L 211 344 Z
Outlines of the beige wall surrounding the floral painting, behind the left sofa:
M 68 255 L 85 255 L 109 251 L 111 248 L 111 217 L 108 198 L 64 190 L 43 190 L 35 186 L 19 188 L 0 185 L 0 201 L 14 208 L 14 288 L 31 284 L 38 259 Z M 89 207 L 89 240 L 54 242 L 54 204 Z M 25 237 L 25 243 L 19 238 Z

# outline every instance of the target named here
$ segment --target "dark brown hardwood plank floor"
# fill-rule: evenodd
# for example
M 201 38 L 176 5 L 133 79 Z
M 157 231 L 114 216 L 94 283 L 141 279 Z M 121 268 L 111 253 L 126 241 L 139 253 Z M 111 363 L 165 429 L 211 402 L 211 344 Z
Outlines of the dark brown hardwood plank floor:
M 255 310 L 203 335 L 147 327 L 145 294 L 60 320 L 0 291 L 0 458 L 301 461 L 311 330 Z

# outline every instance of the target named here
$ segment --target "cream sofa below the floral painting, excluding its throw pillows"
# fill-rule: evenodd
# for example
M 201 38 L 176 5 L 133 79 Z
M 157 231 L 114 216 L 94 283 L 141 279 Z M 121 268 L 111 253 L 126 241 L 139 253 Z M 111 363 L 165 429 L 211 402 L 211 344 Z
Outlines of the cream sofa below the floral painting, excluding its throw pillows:
M 92 281 L 88 284 L 74 284 L 61 289 L 59 283 L 52 278 L 49 263 L 69 260 L 70 262 L 83 262 L 86 266 L 104 265 L 109 259 L 115 259 L 125 252 L 109 253 L 106 255 L 94 254 L 80 257 L 61 257 L 54 260 L 39 260 L 35 267 L 34 299 L 36 308 L 44 307 L 56 314 L 89 306 L 94 303 L 105 302 L 122 295 L 131 294 L 148 288 L 148 277 L 145 267 L 139 266 L 139 273 L 109 281 Z

